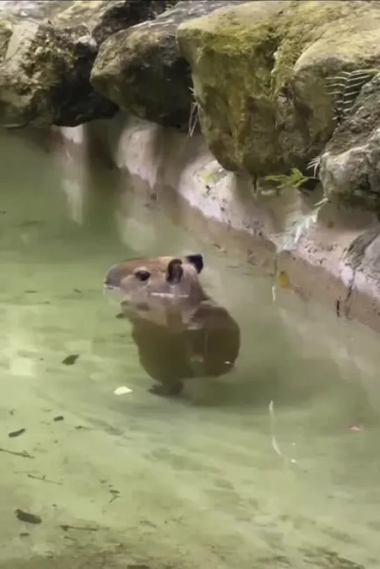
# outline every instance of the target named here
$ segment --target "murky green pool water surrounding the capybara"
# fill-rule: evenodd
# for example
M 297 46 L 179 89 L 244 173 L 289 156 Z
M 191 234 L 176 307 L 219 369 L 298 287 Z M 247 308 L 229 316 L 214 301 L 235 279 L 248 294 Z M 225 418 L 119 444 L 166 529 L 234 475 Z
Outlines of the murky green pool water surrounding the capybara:
M 288 292 L 273 304 L 114 175 L 0 147 L 0 567 L 377 568 L 378 338 Z M 243 344 L 234 373 L 172 401 L 147 391 L 101 283 L 121 258 L 189 250 Z

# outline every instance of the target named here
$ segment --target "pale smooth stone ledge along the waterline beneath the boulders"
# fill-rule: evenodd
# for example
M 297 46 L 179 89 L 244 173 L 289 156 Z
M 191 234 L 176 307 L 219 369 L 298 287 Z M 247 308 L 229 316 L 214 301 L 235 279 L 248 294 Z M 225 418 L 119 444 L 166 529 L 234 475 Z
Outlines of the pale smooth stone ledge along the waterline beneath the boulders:
M 260 272 L 274 274 L 276 244 L 294 219 L 312 212 L 313 202 L 289 189 L 279 197 L 254 198 L 251 182 L 236 177 L 215 161 L 201 135 L 188 138 L 139 119 L 98 121 L 91 136 L 102 140 L 117 168 L 125 170 L 139 191 L 154 195 L 187 228 L 202 228 L 205 239 L 220 249 L 244 250 Z M 61 128 L 74 145 L 78 131 Z M 175 196 L 175 200 L 173 197 Z M 380 273 L 376 249 L 379 223 L 370 212 L 349 213 L 327 205 L 320 219 L 291 251 L 278 256 L 278 269 L 289 276 L 302 297 L 323 302 L 337 316 L 355 318 L 380 332 Z M 371 233 L 372 232 L 372 233 Z M 358 255 L 356 242 L 372 235 Z M 363 237 L 364 235 L 364 237 Z

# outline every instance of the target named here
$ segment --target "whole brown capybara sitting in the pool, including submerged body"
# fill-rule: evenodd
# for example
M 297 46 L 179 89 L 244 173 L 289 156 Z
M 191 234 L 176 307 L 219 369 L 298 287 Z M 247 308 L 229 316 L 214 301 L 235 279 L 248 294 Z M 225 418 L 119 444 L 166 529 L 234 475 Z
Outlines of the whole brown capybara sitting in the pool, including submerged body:
M 105 288 L 121 293 L 139 362 L 158 382 L 153 393 L 179 394 L 185 379 L 227 374 L 238 357 L 240 329 L 202 288 L 203 266 L 200 254 L 139 258 L 105 276 Z

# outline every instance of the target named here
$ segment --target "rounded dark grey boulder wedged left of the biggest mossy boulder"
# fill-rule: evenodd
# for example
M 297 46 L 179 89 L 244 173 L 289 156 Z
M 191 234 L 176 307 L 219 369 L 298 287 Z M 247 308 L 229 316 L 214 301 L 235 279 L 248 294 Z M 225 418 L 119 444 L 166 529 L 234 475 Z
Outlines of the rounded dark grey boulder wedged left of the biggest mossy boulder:
M 190 66 L 178 50 L 182 22 L 240 1 L 192 0 L 129 29 L 100 47 L 93 87 L 123 110 L 165 126 L 188 128 L 192 105 Z

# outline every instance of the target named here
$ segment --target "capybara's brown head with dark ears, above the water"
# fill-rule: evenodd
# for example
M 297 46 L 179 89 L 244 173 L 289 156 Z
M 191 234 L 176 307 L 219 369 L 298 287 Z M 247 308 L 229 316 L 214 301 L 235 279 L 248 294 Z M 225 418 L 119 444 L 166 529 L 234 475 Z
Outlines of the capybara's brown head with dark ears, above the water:
M 109 269 L 104 287 L 118 290 L 124 300 L 178 297 L 199 302 L 205 297 L 198 279 L 203 266 L 203 258 L 199 253 L 183 258 L 130 259 Z

